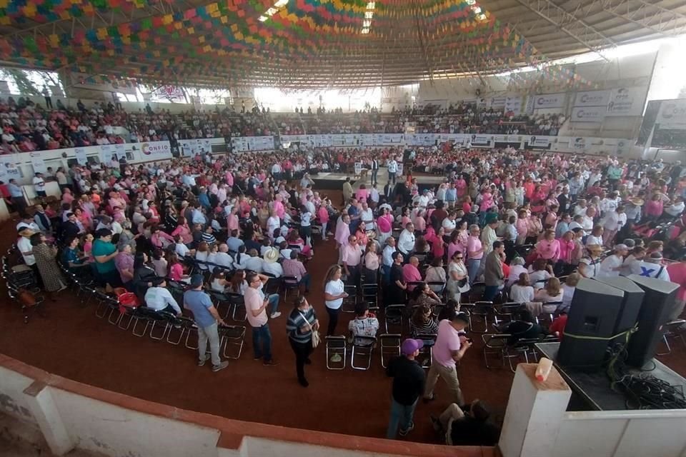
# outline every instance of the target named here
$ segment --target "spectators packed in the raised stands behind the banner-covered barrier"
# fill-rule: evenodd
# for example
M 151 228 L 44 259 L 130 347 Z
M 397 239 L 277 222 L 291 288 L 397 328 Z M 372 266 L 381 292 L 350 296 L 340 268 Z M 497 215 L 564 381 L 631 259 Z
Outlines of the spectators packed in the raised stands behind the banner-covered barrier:
M 169 141 L 174 148 L 179 139 L 278 134 L 400 134 L 408 126 L 413 126 L 416 133 L 555 136 L 564 122 L 565 116 L 561 114 L 527 116 L 505 113 L 502 109 L 477 109 L 476 104 L 451 105 L 448 109 L 427 105 L 385 114 L 375 109 L 354 113 L 321 109 L 314 114 L 308 109 L 307 114 L 292 116 L 272 114 L 257 107 L 246 111 L 244 106 L 240 112 L 216 106 L 214 110 L 182 113 L 154 111 L 149 104 L 145 109 L 126 111 L 114 101 L 96 101 L 86 107 L 79 100 L 76 106 L 65 106 L 59 99 L 53 105 L 49 96 L 44 107 L 28 97 L 15 101 L 9 96 L 0 99 L 0 152 L 14 154 L 145 141 Z

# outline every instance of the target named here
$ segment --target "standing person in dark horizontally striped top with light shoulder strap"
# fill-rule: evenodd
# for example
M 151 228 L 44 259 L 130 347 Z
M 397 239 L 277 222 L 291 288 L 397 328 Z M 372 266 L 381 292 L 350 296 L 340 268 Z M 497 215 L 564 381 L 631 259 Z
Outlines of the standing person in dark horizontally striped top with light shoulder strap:
M 293 311 L 288 315 L 286 332 L 291 348 L 295 353 L 295 369 L 298 375 L 298 383 L 309 386 L 305 378 L 305 365 L 312 363 L 309 354 L 312 353 L 312 331 L 319 330 L 319 320 L 314 308 L 310 306 L 307 298 L 298 296 L 295 298 Z

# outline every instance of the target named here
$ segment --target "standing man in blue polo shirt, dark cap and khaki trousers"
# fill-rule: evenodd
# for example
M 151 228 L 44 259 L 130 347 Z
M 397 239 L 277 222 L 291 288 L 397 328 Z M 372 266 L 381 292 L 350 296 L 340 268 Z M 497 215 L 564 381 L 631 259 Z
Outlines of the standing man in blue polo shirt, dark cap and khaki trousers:
M 207 362 L 207 342 L 209 351 L 212 353 L 212 371 L 227 368 L 229 362 L 219 358 L 219 325 L 226 326 L 217 308 L 214 308 L 209 295 L 202 291 L 202 274 L 194 274 L 191 278 L 191 286 L 184 293 L 184 306 L 192 311 L 193 318 L 198 326 L 198 366 Z

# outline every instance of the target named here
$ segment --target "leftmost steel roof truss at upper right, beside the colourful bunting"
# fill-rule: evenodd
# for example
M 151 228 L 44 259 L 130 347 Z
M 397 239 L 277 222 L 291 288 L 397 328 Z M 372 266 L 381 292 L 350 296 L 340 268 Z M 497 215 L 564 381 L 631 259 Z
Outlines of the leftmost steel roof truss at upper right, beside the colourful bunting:
M 607 57 L 602 53 L 603 49 L 617 46 L 617 43 L 602 34 L 593 26 L 567 12 L 562 6 L 557 6 L 550 0 L 517 0 L 517 3 L 530 9 L 534 14 L 557 26 L 560 31 L 575 39 L 585 48 L 600 55 L 606 61 Z

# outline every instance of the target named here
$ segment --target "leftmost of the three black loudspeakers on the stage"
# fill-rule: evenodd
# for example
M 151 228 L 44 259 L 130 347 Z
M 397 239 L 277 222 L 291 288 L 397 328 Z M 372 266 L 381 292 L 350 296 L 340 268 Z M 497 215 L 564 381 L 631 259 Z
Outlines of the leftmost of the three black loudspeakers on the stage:
M 587 371 L 599 369 L 610 343 L 603 338 L 614 334 L 623 301 L 624 292 L 620 289 L 582 278 L 572 298 L 557 363 Z M 584 336 L 600 339 L 577 338 Z

